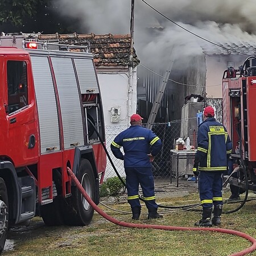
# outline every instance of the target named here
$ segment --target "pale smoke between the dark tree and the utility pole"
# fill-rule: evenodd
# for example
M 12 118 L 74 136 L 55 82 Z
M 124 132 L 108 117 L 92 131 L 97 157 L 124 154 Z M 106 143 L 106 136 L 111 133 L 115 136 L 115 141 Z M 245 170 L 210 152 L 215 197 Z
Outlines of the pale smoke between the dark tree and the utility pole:
M 129 34 L 130 2 L 118 0 L 53 0 L 65 16 L 79 18 L 94 34 Z

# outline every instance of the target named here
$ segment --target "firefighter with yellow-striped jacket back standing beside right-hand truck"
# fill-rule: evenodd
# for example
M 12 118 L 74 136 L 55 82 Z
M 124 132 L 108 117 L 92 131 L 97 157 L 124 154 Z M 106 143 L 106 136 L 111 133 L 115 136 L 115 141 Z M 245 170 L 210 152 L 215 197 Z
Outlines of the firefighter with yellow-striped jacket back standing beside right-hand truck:
M 199 194 L 203 213 L 196 226 L 221 224 L 222 173 L 227 170 L 232 152 L 226 128 L 214 118 L 214 109 L 204 109 L 205 121 L 200 124 L 197 134 L 197 151 L 193 166 L 195 176 L 199 174 Z M 214 207 L 214 208 L 213 208 Z M 213 210 L 213 218 L 212 218 Z

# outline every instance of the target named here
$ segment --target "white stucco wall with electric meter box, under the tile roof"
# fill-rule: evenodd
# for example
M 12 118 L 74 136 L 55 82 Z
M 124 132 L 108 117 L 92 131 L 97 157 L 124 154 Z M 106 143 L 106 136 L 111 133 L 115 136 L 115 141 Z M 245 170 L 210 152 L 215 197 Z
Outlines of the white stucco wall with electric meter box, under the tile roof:
M 123 162 L 116 159 L 111 150 L 110 144 L 115 136 L 130 126 L 130 115 L 136 113 L 137 109 L 137 69 L 134 69 L 129 100 L 129 72 L 118 71 L 97 71 L 98 81 L 101 88 L 102 105 L 104 109 L 105 131 L 106 131 L 106 148 L 112 158 L 115 167 L 120 176 L 125 177 Z M 111 108 L 120 107 L 121 121 L 112 123 L 110 121 Z M 107 158 L 107 167 L 105 172 L 105 180 L 108 177 L 117 176 Z

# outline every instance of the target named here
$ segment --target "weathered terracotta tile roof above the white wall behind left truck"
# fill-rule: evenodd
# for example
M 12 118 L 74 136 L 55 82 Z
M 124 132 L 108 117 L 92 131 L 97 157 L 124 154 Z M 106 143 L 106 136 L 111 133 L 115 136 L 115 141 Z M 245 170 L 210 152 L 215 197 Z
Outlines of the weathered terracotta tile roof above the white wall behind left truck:
M 94 55 L 96 67 L 128 67 L 130 56 L 130 35 L 113 34 L 23 34 L 27 38 L 37 38 L 59 44 L 75 44 L 88 46 Z M 134 52 L 134 66 L 139 64 L 138 56 Z

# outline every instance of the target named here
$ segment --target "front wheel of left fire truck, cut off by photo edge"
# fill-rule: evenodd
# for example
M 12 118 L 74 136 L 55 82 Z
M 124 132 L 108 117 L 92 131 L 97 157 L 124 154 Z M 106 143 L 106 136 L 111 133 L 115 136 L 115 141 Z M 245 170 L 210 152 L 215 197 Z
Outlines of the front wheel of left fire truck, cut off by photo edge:
M 5 247 L 6 235 L 8 230 L 8 195 L 5 181 L 0 178 L 0 254 Z

